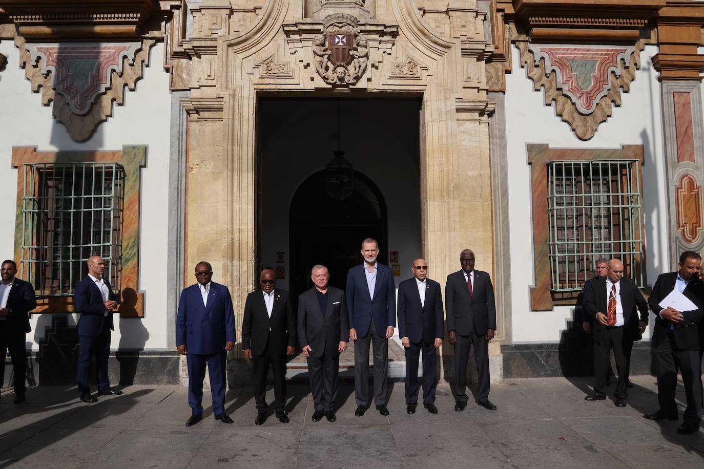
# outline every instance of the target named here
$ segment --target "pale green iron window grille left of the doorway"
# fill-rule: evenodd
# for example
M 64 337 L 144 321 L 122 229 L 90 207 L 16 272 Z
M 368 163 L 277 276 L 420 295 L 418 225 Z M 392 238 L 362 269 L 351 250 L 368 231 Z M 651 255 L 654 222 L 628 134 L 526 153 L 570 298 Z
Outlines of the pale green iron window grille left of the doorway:
M 71 296 L 87 275 L 86 259 L 103 258 L 120 291 L 125 169 L 117 163 L 23 166 L 20 273 L 37 297 Z

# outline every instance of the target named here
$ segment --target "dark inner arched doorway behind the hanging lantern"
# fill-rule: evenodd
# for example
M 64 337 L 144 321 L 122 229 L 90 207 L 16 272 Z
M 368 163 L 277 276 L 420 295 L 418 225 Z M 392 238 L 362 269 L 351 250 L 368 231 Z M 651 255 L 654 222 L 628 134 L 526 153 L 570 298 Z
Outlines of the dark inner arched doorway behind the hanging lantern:
M 386 203 L 374 182 L 355 171 L 353 193 L 336 200 L 325 193 L 325 171 L 316 172 L 298 186 L 289 212 L 291 293 L 313 286 L 310 269 L 327 266 L 330 285 L 345 288 L 347 271 L 362 263 L 360 243 L 379 241 L 379 262 L 387 264 Z

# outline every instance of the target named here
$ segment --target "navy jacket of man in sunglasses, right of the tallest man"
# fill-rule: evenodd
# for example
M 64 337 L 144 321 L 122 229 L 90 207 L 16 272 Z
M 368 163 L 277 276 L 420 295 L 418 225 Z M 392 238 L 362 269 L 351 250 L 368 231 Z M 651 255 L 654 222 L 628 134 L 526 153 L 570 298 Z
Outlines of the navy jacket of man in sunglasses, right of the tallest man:
M 398 284 L 398 337 L 407 337 L 410 342 L 433 343 L 443 338 L 443 318 L 440 284 L 425 279 L 425 304 L 420 303 L 420 294 L 415 277 Z

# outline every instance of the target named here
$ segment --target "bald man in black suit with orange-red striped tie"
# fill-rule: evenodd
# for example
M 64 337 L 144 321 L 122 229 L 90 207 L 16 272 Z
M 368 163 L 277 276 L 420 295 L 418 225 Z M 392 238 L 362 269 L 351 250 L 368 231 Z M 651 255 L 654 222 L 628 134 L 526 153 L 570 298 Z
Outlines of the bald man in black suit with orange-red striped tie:
M 615 405 L 626 406 L 628 364 L 634 340 L 640 338 L 648 325 L 648 303 L 641 290 L 630 278 L 622 278 L 623 264 L 619 259 L 608 262 L 606 278 L 589 283 L 584 295 L 586 311 L 594 319 L 594 356 L 596 385 L 584 397 L 587 401 L 606 399 L 606 377 L 611 349 L 616 358 L 618 381 L 614 392 Z M 641 313 L 640 321 L 634 311 Z

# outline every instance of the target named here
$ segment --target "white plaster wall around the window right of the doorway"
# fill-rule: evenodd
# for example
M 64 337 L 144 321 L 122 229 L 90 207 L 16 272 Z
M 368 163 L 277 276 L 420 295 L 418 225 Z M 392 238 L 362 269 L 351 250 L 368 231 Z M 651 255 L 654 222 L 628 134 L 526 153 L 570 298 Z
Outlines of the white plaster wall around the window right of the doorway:
M 641 69 L 622 105 L 603 122 L 589 141 L 574 136 L 569 124 L 555 116 L 554 106 L 543 101 L 543 92 L 520 67 L 519 52 L 513 50 L 513 73 L 506 76 L 506 129 L 508 150 L 508 192 L 511 245 L 511 304 L 513 342 L 559 342 L 560 333 L 572 319 L 572 308 L 530 311 L 529 288 L 534 285 L 530 167 L 527 143 L 548 143 L 551 148 L 620 148 L 643 145 L 643 205 L 645 215 L 646 283 L 653 285 L 669 265 L 667 245 L 667 194 L 663 158 L 660 83 L 650 58 L 655 46 L 641 52 Z M 652 315 L 651 315 L 652 316 Z M 652 318 L 651 318 L 652 319 Z M 652 322 L 652 321 L 651 321 Z M 650 332 L 646 331 L 646 336 Z

